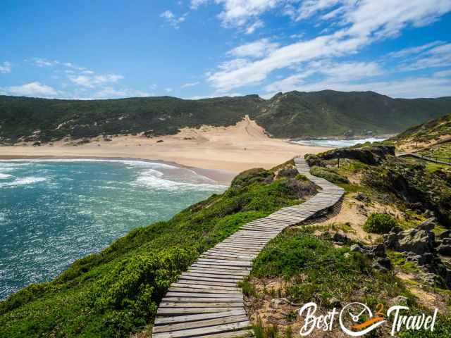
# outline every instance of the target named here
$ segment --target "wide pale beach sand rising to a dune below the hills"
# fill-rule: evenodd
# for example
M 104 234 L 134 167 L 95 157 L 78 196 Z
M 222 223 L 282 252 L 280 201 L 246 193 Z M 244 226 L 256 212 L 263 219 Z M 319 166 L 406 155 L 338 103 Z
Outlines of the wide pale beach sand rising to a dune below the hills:
M 184 128 L 178 134 L 164 137 L 118 136 L 111 137 L 111 141 L 97 137 L 87 144 L 73 144 L 58 141 L 53 146 L 0 146 L 0 158 L 140 158 L 202 168 L 199 170 L 204 175 L 230 181 L 230 177 L 243 170 L 268 169 L 294 156 L 330 149 L 273 139 L 249 118 L 230 127 Z

